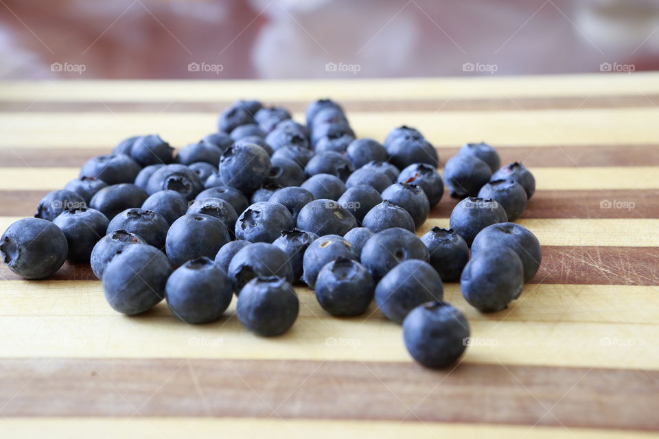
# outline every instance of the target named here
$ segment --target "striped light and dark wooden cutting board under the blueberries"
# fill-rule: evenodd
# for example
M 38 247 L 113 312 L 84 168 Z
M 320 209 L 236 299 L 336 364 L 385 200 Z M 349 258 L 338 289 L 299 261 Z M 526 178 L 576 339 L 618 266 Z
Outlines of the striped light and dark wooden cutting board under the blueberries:
M 176 146 L 240 97 L 345 104 L 360 137 L 419 128 L 442 162 L 466 141 L 523 161 L 520 224 L 540 272 L 506 311 L 470 320 L 459 366 L 430 371 L 372 309 L 330 318 L 299 289 L 290 333 L 234 317 L 190 327 L 164 304 L 119 316 L 89 268 L 49 281 L 0 268 L 0 436 L 640 437 L 659 430 L 659 75 L 294 82 L 0 83 L 0 229 L 87 158 L 158 132 Z M 432 211 L 448 224 L 454 200 Z M 232 305 L 233 306 L 233 305 Z

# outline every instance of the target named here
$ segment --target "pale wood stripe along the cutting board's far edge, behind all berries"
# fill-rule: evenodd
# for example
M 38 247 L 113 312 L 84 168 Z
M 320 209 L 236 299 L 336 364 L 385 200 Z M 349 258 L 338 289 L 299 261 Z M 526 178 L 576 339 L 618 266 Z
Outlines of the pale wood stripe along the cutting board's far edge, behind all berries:
M 659 93 L 656 73 L 599 75 L 478 76 L 402 80 L 175 80 L 0 82 L 5 102 L 214 102 L 259 98 L 311 101 L 331 96 L 340 101 L 488 97 L 643 95 Z

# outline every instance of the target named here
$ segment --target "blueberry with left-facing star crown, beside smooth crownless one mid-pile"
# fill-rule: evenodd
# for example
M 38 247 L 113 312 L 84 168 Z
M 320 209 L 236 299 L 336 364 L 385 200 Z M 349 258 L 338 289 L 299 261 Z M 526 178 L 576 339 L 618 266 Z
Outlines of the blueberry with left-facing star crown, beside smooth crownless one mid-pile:
M 293 228 L 293 217 L 279 203 L 259 202 L 249 206 L 235 222 L 235 236 L 251 242 L 273 242 L 282 230 Z

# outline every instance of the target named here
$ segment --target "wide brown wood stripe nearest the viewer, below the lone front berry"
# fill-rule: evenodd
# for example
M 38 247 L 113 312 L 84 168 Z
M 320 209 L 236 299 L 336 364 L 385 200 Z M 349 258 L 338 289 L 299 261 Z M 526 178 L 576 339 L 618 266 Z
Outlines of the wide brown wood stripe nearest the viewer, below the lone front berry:
M 3 416 L 231 416 L 659 430 L 659 372 L 211 359 L 8 359 Z

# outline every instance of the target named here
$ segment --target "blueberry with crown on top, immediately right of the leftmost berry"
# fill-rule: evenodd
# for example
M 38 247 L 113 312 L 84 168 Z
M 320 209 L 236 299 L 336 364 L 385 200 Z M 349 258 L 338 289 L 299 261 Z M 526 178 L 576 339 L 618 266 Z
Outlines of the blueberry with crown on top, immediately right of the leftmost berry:
M 105 236 L 108 219 L 95 209 L 69 209 L 53 220 L 67 237 L 71 262 L 89 262 L 96 243 Z

